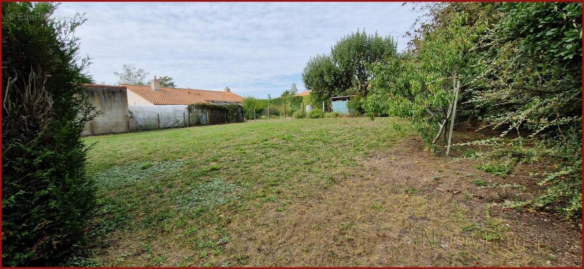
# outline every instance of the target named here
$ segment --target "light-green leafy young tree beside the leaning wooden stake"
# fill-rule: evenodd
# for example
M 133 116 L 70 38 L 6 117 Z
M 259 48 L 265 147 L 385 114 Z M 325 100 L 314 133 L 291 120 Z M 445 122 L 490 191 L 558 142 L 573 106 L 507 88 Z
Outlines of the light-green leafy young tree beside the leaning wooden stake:
M 465 53 L 473 45 L 475 28 L 466 24 L 463 13 L 447 26 L 426 33 L 415 54 L 401 55 L 374 65 L 373 90 L 364 104 L 366 114 L 387 114 L 411 119 L 425 146 L 434 151 L 434 138 L 449 115 L 454 100 L 454 77 L 461 76 L 469 63 Z

